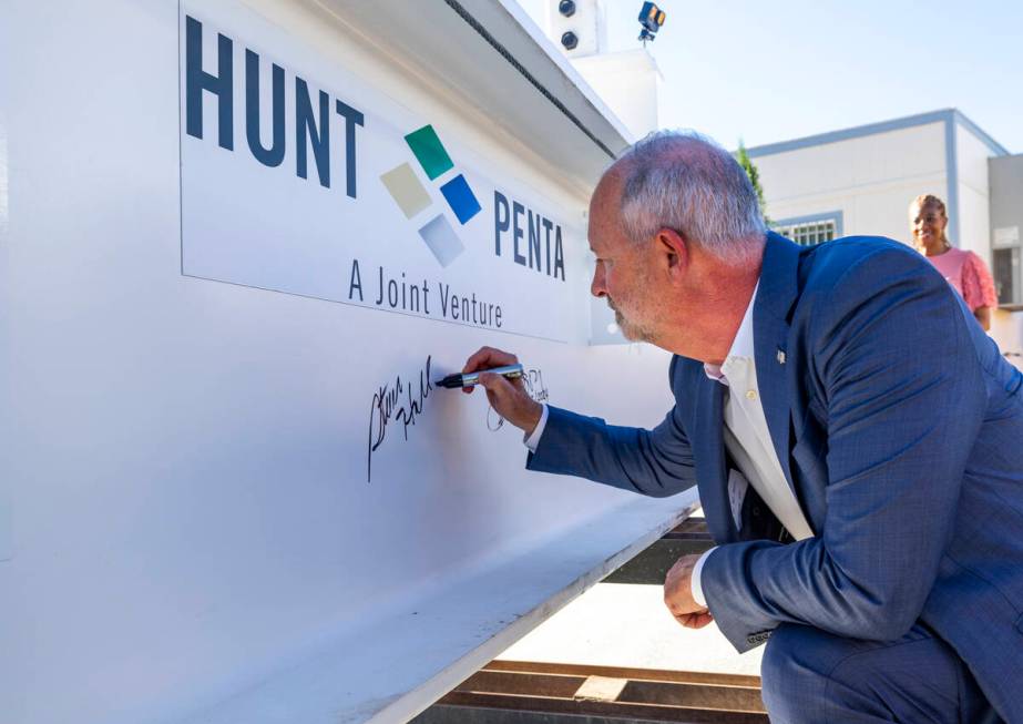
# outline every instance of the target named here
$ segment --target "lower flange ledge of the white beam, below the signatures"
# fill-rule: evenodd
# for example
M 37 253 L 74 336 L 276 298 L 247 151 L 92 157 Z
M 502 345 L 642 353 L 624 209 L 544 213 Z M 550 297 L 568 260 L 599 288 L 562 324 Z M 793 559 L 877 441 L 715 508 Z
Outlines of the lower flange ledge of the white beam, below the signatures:
M 665 516 L 683 517 L 679 502 L 687 510 L 695 507 L 695 494 L 679 499 L 653 506 L 634 501 L 509 551 L 495 567 L 438 581 L 420 599 L 360 620 L 356 630 L 328 640 L 325 650 L 305 662 L 185 721 L 407 721 L 669 530 L 672 523 L 663 521 L 668 520 Z M 634 540 L 635 531 L 644 528 L 648 532 Z M 624 548 L 608 557 L 607 551 L 620 544 Z M 586 573 L 572 579 L 581 570 Z M 565 585 L 566 581 L 571 582 Z M 623 625 L 630 612 L 630 608 L 615 611 Z M 432 675 L 420 681 L 411 675 L 417 672 Z

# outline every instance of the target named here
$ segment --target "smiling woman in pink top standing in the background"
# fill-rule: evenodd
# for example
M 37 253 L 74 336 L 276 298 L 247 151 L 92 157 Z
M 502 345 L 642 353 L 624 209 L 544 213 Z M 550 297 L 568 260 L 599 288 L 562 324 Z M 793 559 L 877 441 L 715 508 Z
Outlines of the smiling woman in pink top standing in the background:
M 949 217 L 944 203 L 931 194 L 917 196 L 909 205 L 913 244 L 959 292 L 973 316 L 986 332 L 991 328 L 991 308 L 998 305 L 991 273 L 973 252 L 953 248 L 944 235 Z

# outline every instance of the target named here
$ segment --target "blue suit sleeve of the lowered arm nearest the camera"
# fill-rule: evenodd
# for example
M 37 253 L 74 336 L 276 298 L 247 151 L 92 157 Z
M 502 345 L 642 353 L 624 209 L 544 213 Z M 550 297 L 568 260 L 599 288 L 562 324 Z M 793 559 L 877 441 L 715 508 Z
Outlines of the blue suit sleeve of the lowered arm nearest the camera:
M 739 650 L 782 622 L 868 640 L 906 633 L 938 575 L 983 418 L 962 309 L 908 253 L 855 263 L 807 338 L 827 410 L 827 516 L 816 538 L 734 543 L 707 559 L 710 612 Z

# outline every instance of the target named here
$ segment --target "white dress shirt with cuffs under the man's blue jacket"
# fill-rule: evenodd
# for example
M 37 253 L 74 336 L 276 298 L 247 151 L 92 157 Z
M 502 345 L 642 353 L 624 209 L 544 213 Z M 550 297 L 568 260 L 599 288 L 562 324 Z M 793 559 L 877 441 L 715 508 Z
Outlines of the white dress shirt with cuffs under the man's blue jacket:
M 707 377 L 716 379 L 728 388 L 724 408 L 724 438 L 725 447 L 738 468 L 738 470 L 732 470 L 728 476 L 728 499 L 736 528 L 741 526 L 743 499 L 747 485 L 751 485 L 792 538 L 802 540 L 812 538 L 814 531 L 807 523 L 806 516 L 802 514 L 799 502 L 785 479 L 785 472 L 781 470 L 781 463 L 778 461 L 770 432 L 767 429 L 767 418 L 764 416 L 760 389 L 757 386 L 753 307 L 759 288 L 758 282 L 725 361 L 720 366 L 705 364 L 704 371 Z M 546 421 L 548 406 L 544 405 L 540 422 L 536 424 L 532 435 L 524 439 L 526 447 L 533 452 L 536 451 Z M 699 605 L 707 605 L 700 585 L 700 573 L 704 563 L 714 550 L 712 548 L 700 555 L 693 568 L 692 593 L 693 599 Z

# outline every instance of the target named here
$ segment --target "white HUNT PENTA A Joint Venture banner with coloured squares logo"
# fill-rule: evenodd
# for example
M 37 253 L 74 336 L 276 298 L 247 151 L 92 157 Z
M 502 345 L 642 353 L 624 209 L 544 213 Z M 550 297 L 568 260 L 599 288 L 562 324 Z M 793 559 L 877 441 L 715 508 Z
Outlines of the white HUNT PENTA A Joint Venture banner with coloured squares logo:
M 583 271 L 565 264 L 577 228 L 247 13 L 225 23 L 182 8 L 183 274 L 579 337 L 569 282 Z

